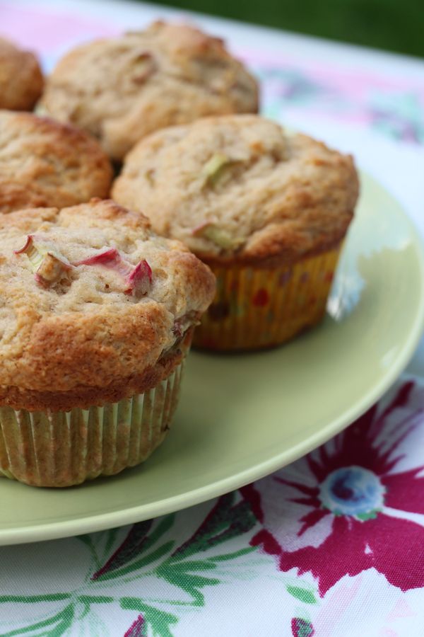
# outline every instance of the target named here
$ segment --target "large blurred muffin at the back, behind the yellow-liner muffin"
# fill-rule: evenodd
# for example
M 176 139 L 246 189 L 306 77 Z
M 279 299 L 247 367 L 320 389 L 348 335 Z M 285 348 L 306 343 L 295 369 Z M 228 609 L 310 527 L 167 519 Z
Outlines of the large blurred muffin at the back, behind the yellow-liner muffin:
M 121 160 L 160 128 L 204 115 L 256 113 L 258 88 L 222 40 L 189 25 L 155 22 L 66 54 L 47 80 L 42 108 L 88 130 Z

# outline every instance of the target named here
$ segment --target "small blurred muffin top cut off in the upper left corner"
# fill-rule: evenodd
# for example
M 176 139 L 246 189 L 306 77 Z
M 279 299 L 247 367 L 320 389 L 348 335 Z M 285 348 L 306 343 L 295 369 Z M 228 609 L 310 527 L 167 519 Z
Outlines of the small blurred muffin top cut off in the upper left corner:
M 33 110 L 42 86 L 42 72 L 35 55 L 0 38 L 0 108 Z

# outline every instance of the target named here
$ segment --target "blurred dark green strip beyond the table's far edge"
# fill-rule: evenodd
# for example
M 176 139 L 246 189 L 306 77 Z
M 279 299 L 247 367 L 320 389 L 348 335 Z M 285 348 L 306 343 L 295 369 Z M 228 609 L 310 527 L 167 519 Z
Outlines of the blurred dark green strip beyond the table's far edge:
M 424 0 L 167 0 L 155 4 L 424 57 Z

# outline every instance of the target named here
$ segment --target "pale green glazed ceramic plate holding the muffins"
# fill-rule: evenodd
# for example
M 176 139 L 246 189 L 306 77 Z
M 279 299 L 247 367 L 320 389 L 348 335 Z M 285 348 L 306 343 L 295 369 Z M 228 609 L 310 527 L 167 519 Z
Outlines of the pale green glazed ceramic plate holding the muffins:
M 139 468 L 66 490 L 0 480 L 0 544 L 105 529 L 208 500 L 309 452 L 376 401 L 418 343 L 424 261 L 396 201 L 367 176 L 362 193 L 319 328 L 267 352 L 193 352 L 175 425 Z

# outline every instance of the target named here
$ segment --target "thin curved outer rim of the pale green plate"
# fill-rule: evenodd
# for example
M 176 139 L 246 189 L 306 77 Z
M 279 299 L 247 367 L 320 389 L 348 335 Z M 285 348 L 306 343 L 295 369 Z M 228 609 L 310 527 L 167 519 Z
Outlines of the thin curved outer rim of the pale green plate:
M 415 224 L 408 216 L 404 205 L 387 188 L 379 182 L 378 179 L 365 171 L 360 171 L 361 178 L 370 180 L 377 185 L 385 194 L 389 195 L 398 206 L 395 214 L 402 217 L 408 229 L 408 235 L 413 244 L 413 248 L 418 260 L 419 278 L 424 282 L 424 243 L 423 239 L 416 229 Z M 401 372 L 404 371 L 408 362 L 411 360 L 414 351 L 418 345 L 424 328 L 424 288 L 421 288 L 420 299 L 416 316 L 414 317 L 413 327 L 409 331 L 406 338 L 404 348 L 399 353 L 394 363 L 387 369 L 386 374 L 373 385 L 370 391 L 364 394 L 363 398 L 355 405 L 349 407 L 343 414 L 330 421 L 325 427 L 313 432 L 307 437 L 307 440 L 298 442 L 290 449 L 274 455 L 270 459 L 259 462 L 248 469 L 238 471 L 232 476 L 221 478 L 213 481 L 208 485 L 194 488 L 173 495 L 170 498 L 156 500 L 153 503 L 136 505 L 124 508 L 118 511 L 107 513 L 98 513 L 84 518 L 75 518 L 71 520 L 62 520 L 61 522 L 45 522 L 35 524 L 35 526 L 26 526 L 21 529 L 11 527 L 7 529 L 0 528 L 0 546 L 8 546 L 14 544 L 24 544 L 27 542 L 48 541 L 52 539 L 61 539 L 69 536 L 81 535 L 89 532 L 98 532 L 114 527 L 122 527 L 126 524 L 134 524 L 141 520 L 167 515 L 171 512 L 186 509 L 194 505 L 206 502 L 212 498 L 216 498 L 223 493 L 235 490 L 246 484 L 259 480 L 266 475 L 273 473 L 277 469 L 290 464 L 305 454 L 316 449 L 327 440 L 334 437 L 338 432 L 353 423 L 353 420 L 365 413 L 372 404 L 374 404 L 387 389 L 399 378 Z M 6 478 L 7 479 L 7 478 Z

